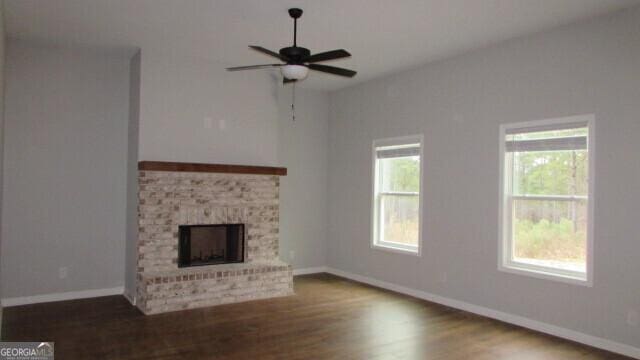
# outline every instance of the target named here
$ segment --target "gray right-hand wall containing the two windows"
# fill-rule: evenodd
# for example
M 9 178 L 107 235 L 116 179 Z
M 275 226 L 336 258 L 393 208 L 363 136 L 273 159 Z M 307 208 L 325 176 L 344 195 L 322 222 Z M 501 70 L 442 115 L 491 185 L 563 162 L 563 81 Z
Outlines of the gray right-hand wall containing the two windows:
M 331 95 L 330 266 L 640 346 L 640 8 Z M 596 116 L 595 273 L 497 270 L 498 126 Z M 371 249 L 371 143 L 424 134 L 421 258 Z

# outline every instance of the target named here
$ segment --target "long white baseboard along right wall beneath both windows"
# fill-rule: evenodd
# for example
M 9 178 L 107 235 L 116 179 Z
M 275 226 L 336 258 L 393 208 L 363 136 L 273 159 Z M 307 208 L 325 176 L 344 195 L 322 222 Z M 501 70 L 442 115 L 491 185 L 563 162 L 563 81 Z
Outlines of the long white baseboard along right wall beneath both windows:
M 528 329 L 539 331 L 545 334 L 557 336 L 559 338 L 579 342 L 581 344 L 593 346 L 599 349 L 604 349 L 604 350 L 608 350 L 618 354 L 640 359 L 640 348 L 633 347 L 631 345 L 618 343 L 612 340 L 607 340 L 607 339 L 599 338 L 592 335 L 587 335 L 587 334 L 566 329 L 560 326 L 551 325 L 541 321 L 525 318 L 522 316 L 493 310 L 483 306 L 470 304 L 464 301 L 454 300 L 454 299 L 446 298 L 443 296 L 430 294 L 424 291 L 411 289 L 408 287 L 396 285 L 386 281 L 381 281 L 374 278 L 370 278 L 370 277 L 366 277 L 366 276 L 362 276 L 362 275 L 358 275 L 358 274 L 354 274 L 354 273 L 350 273 L 350 272 L 346 272 L 346 271 L 342 271 L 342 270 L 338 270 L 330 267 L 326 268 L 326 272 L 336 276 L 354 280 L 357 282 L 369 284 L 372 286 L 395 291 L 402 294 L 406 294 L 419 299 L 431 301 L 431 302 L 442 304 L 452 308 L 464 310 L 470 313 L 482 315 L 488 318 L 500 320 L 506 323 L 522 326 L 524 328 L 528 328 Z

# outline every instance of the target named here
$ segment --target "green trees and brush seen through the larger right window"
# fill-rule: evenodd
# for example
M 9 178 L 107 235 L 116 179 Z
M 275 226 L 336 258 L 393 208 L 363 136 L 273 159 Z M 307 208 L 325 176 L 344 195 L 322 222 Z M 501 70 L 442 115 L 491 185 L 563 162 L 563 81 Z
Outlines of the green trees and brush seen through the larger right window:
M 526 134 L 528 137 L 533 135 Z M 514 194 L 587 195 L 586 150 L 516 152 L 512 156 Z M 516 257 L 567 264 L 585 263 L 584 202 L 520 201 L 521 207 L 516 207 L 514 218 Z

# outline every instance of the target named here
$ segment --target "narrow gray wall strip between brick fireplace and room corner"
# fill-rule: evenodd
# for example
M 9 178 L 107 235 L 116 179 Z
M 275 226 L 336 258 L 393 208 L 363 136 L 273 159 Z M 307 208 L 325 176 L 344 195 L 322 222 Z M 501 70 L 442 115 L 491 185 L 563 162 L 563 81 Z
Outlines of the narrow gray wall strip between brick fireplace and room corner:
M 294 269 L 326 265 L 329 96 L 292 87 L 279 91 L 278 158 L 288 174 L 280 180 L 280 258 Z M 293 256 L 292 256 L 293 255 Z

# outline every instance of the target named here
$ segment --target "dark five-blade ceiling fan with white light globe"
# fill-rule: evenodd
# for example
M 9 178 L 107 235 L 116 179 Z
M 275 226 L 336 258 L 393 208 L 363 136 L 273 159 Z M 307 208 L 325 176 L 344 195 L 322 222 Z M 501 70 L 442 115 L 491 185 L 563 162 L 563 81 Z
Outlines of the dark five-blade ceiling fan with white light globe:
M 240 70 L 255 70 L 255 69 L 268 69 L 268 68 L 280 68 L 282 76 L 284 77 L 283 83 L 292 83 L 298 80 L 303 80 L 307 77 L 309 69 L 322 71 L 334 75 L 353 77 L 356 72 L 349 69 L 343 69 L 335 66 L 316 64 L 317 62 L 335 60 L 350 57 L 344 49 L 331 50 L 311 55 L 311 51 L 307 48 L 299 47 L 296 42 L 298 18 L 302 16 L 302 9 L 291 8 L 289 9 L 289 16 L 293 18 L 293 46 L 280 49 L 279 52 L 265 49 L 261 46 L 250 45 L 249 47 L 260 51 L 261 53 L 273 56 L 280 59 L 284 64 L 264 64 L 264 65 L 250 65 L 250 66 L 237 66 L 227 68 L 228 71 L 240 71 Z

